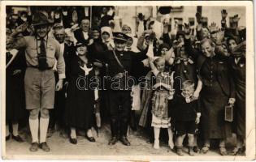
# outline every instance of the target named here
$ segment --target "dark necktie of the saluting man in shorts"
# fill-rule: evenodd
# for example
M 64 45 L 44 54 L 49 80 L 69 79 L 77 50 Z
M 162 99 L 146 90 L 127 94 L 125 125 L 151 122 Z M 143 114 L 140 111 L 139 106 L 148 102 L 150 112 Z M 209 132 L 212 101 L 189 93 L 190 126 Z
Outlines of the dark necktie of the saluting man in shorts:
M 43 38 L 40 39 L 40 53 L 38 53 L 38 69 L 46 70 L 48 68 L 48 64 L 46 62 L 46 45 L 45 40 Z

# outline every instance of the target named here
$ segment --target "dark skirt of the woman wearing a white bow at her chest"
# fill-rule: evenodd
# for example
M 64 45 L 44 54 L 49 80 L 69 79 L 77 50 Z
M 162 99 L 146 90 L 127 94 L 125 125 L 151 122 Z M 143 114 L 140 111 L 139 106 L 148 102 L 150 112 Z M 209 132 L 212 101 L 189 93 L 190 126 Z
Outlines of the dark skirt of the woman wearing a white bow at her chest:
M 71 79 L 67 88 L 65 122 L 69 127 L 88 130 L 93 126 L 93 90 L 78 89 L 76 78 Z

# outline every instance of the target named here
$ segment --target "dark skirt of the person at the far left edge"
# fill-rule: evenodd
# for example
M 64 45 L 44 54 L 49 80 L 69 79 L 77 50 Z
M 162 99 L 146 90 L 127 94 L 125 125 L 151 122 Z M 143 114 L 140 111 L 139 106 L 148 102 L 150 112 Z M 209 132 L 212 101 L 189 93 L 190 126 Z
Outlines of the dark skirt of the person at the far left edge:
M 25 96 L 24 96 L 24 77 L 22 74 L 12 75 L 7 71 L 6 84 L 6 120 L 19 122 L 25 117 Z

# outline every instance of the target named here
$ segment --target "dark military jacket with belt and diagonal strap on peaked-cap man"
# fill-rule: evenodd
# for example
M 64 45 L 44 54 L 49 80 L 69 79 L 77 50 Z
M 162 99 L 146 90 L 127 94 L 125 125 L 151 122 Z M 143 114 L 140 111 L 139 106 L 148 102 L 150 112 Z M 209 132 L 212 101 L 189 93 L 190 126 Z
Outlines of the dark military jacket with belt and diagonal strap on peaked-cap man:
M 144 74 L 145 67 L 141 61 L 147 58 L 146 51 L 134 53 L 132 51 L 119 52 L 115 50 L 115 55 L 124 68 L 119 65 L 112 50 L 93 53 L 96 59 L 106 65 L 107 76 L 104 80 L 107 84 L 106 88 L 111 90 L 131 90 L 132 85 L 137 82 L 137 77 Z

